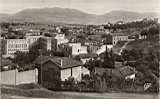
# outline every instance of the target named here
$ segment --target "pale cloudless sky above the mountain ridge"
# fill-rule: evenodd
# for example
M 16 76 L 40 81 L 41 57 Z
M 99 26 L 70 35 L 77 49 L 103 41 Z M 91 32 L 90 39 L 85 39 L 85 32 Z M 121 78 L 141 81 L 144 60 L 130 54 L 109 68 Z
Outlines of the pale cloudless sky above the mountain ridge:
M 0 13 L 16 13 L 27 8 L 73 8 L 90 14 L 112 10 L 160 12 L 160 0 L 0 0 Z

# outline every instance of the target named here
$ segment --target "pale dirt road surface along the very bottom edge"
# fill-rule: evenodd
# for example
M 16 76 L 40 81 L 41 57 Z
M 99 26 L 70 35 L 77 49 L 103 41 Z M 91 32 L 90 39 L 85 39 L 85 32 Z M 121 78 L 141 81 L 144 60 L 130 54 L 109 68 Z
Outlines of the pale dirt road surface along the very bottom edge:
M 130 94 L 130 93 L 77 93 L 77 92 L 58 92 L 64 96 L 50 97 L 50 99 L 159 99 L 158 95 L 153 94 Z M 31 98 L 15 95 L 2 95 L 2 99 L 48 99 Z

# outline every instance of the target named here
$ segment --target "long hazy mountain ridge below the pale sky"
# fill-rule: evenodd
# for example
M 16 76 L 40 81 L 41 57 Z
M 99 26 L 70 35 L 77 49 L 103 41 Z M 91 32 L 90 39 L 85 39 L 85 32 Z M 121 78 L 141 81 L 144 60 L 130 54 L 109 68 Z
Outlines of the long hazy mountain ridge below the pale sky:
M 104 24 L 119 20 L 132 21 L 142 18 L 157 17 L 156 13 L 137 13 L 129 11 L 111 11 L 103 15 L 88 14 L 68 8 L 25 9 L 15 14 L 0 14 L 0 22 L 42 22 L 67 24 Z

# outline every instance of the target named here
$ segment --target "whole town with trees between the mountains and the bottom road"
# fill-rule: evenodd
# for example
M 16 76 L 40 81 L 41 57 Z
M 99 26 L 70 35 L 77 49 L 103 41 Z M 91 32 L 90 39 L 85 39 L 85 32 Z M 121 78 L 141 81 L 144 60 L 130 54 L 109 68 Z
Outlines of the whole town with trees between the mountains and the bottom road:
M 52 91 L 157 93 L 159 29 L 157 18 L 103 25 L 3 22 L 1 83 Z

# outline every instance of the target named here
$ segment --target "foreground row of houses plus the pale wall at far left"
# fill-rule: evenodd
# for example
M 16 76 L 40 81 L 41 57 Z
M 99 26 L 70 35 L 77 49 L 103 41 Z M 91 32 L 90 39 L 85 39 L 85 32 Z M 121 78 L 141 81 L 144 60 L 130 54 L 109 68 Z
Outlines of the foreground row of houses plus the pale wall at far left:
M 97 55 L 79 55 L 82 61 L 69 57 L 39 56 L 32 66 L 25 71 L 20 71 L 12 62 L 2 61 L 1 81 L 2 84 L 19 85 L 38 83 L 48 89 L 58 89 L 60 82 L 65 82 L 73 77 L 75 82 L 81 82 L 85 75 L 96 78 L 95 85 L 98 89 L 106 87 L 107 77 L 117 79 L 134 80 L 136 70 L 130 66 L 124 66 L 122 62 L 115 62 L 115 69 L 95 67 L 92 71 L 85 67 L 84 63 Z M 92 58 L 92 59 L 93 59 Z

